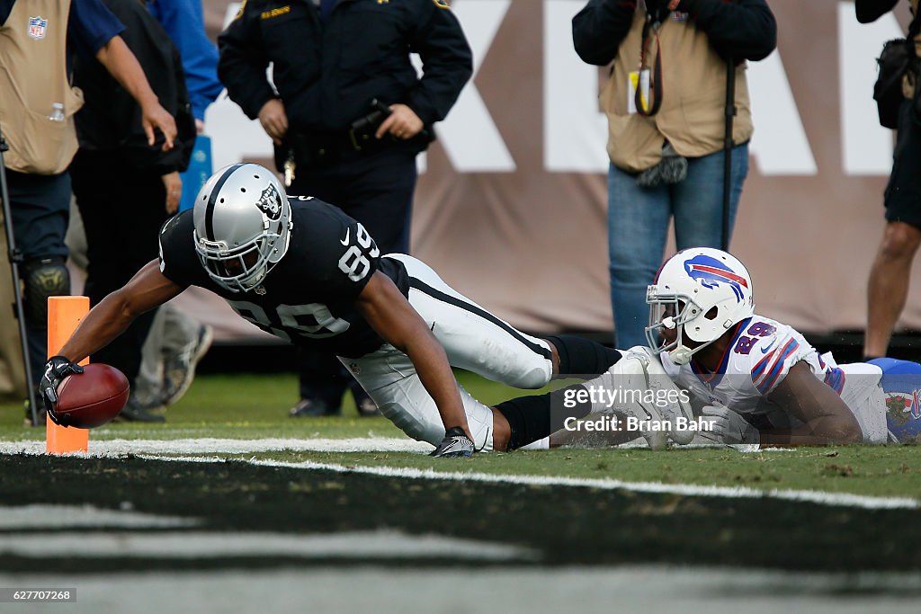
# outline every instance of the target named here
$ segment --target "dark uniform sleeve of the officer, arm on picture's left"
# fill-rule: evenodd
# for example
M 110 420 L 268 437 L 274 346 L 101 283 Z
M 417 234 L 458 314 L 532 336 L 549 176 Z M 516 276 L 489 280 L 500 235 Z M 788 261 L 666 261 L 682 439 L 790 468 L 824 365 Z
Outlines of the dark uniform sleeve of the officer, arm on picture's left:
M 275 97 L 265 77 L 269 65 L 259 29 L 259 6 L 244 2 L 227 29 L 217 37 L 220 52 L 217 76 L 227 87 L 227 95 L 239 104 L 251 120 L 259 116 L 262 105 Z

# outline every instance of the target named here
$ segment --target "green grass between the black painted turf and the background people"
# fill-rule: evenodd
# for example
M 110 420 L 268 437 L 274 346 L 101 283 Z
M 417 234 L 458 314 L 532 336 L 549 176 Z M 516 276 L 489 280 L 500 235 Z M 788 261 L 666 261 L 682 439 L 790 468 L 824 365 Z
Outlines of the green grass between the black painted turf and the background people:
M 460 373 L 465 388 L 487 403 L 522 391 Z M 527 393 L 525 391 L 524 393 Z M 538 393 L 541 391 L 534 391 Z M 95 429 L 92 441 L 111 439 L 175 440 L 405 437 L 384 418 L 359 418 L 350 395 L 343 417 L 291 419 L 297 380 L 280 376 L 199 377 L 186 396 L 169 408 L 162 424 L 111 423 Z M 22 425 L 23 411 L 0 405 L 0 441 L 44 439 L 44 429 Z M 235 458 L 233 454 L 218 455 Z M 573 449 L 478 455 L 463 461 L 428 458 L 417 452 L 259 452 L 246 458 L 344 465 L 461 470 L 498 474 L 609 478 L 666 484 L 745 486 L 755 489 L 818 490 L 870 496 L 921 499 L 921 448 L 917 446 L 838 446 L 740 453 L 732 449 L 673 447 L 647 449 Z

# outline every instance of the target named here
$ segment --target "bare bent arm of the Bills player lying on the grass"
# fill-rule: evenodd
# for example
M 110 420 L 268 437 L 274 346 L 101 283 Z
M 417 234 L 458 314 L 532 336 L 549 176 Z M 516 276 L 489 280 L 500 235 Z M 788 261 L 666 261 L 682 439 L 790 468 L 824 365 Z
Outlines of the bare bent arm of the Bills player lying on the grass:
M 793 365 L 768 399 L 804 424 L 794 429 L 763 430 L 763 445 L 822 446 L 863 441 L 860 424 L 845 401 L 816 378 L 804 362 Z

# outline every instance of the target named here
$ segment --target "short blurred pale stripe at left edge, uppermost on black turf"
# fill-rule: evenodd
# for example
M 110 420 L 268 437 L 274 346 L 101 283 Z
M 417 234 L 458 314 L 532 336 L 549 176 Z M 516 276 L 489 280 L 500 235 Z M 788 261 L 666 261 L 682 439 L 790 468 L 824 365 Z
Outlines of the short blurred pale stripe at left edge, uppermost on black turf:
M 0 529 L 30 528 L 172 528 L 202 524 L 196 518 L 157 516 L 130 510 L 111 510 L 93 505 L 0 505 Z

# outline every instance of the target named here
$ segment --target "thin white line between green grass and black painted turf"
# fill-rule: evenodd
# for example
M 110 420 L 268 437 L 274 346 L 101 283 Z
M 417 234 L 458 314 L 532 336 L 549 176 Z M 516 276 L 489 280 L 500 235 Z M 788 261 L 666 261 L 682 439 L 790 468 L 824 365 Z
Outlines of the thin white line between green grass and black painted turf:
M 175 460 L 196 462 L 226 462 L 225 458 L 201 457 L 160 457 L 144 456 L 151 460 Z M 436 471 L 434 469 L 414 469 L 409 467 L 366 467 L 355 465 L 348 467 L 333 463 L 318 463 L 312 460 L 286 462 L 282 460 L 260 460 L 257 458 L 237 459 L 251 465 L 262 467 L 285 467 L 289 469 L 313 469 L 336 471 L 338 473 L 364 473 L 384 478 L 406 478 L 409 480 L 452 480 L 482 481 L 484 483 L 523 484 L 527 486 L 571 486 L 575 488 L 597 488 L 606 491 L 653 492 L 656 494 L 681 494 L 689 497 L 722 497 L 727 499 L 779 499 L 834 507 L 860 507 L 863 509 L 917 509 L 921 501 L 909 497 L 873 497 L 847 492 L 822 491 L 769 491 L 746 488 L 744 486 L 702 486 L 696 484 L 665 484 L 659 481 L 622 481 L 610 478 L 566 478 L 563 476 L 543 475 L 508 475 L 464 471 Z

